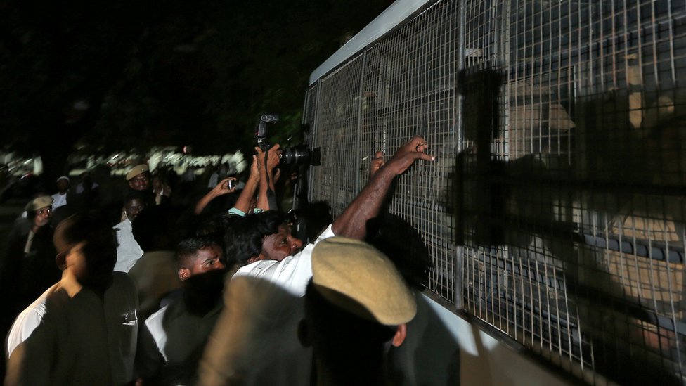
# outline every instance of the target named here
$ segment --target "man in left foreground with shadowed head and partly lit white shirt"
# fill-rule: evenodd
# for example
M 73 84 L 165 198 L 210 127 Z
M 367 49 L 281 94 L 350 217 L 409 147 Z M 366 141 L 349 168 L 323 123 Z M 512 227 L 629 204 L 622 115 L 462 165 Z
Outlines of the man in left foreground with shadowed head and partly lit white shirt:
M 98 217 L 62 221 L 58 283 L 25 309 L 8 335 L 6 385 L 124 385 L 134 379 L 136 287 L 112 272 L 112 229 Z

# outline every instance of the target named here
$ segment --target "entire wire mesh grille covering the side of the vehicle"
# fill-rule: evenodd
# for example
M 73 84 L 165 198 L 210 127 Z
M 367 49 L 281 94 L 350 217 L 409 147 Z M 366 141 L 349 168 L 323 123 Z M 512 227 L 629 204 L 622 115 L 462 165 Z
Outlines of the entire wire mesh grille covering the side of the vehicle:
M 318 81 L 311 199 L 425 136 L 389 211 L 429 290 L 590 383 L 682 383 L 683 79 L 685 0 L 436 1 Z

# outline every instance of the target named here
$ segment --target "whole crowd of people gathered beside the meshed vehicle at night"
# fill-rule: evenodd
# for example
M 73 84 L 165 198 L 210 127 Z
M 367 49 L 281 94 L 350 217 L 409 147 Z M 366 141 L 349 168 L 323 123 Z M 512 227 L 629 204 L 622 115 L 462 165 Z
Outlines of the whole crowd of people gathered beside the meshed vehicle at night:
M 72 190 L 61 176 L 27 203 L 0 262 L 5 385 L 413 384 L 413 361 L 391 359 L 426 266 L 369 236 L 396 176 L 434 160 L 426 150 L 415 136 L 377 153 L 339 217 L 318 229 L 328 213 L 309 214 L 304 241 L 276 207 L 278 145 L 197 199 L 145 164 L 106 205 L 92 179 Z

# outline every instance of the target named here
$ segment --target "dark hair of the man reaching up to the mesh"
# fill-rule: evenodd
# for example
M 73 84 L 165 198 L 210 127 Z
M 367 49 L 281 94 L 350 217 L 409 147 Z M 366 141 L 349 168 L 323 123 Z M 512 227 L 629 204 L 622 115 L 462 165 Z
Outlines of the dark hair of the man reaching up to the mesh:
M 264 236 L 278 233 L 278 228 L 283 223 L 283 214 L 274 210 L 247 214 L 245 217 L 232 221 L 224 233 L 226 259 L 233 259 L 241 266 L 245 265 L 251 257 L 258 256 L 262 252 Z

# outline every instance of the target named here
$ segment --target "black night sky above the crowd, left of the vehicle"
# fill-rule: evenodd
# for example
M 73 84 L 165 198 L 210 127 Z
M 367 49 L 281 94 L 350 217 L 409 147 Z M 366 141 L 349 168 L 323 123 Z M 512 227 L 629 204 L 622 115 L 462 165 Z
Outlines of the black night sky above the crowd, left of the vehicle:
M 295 134 L 309 73 L 391 3 L 4 1 L 3 150 L 50 172 L 76 143 L 245 148 L 264 112 Z

